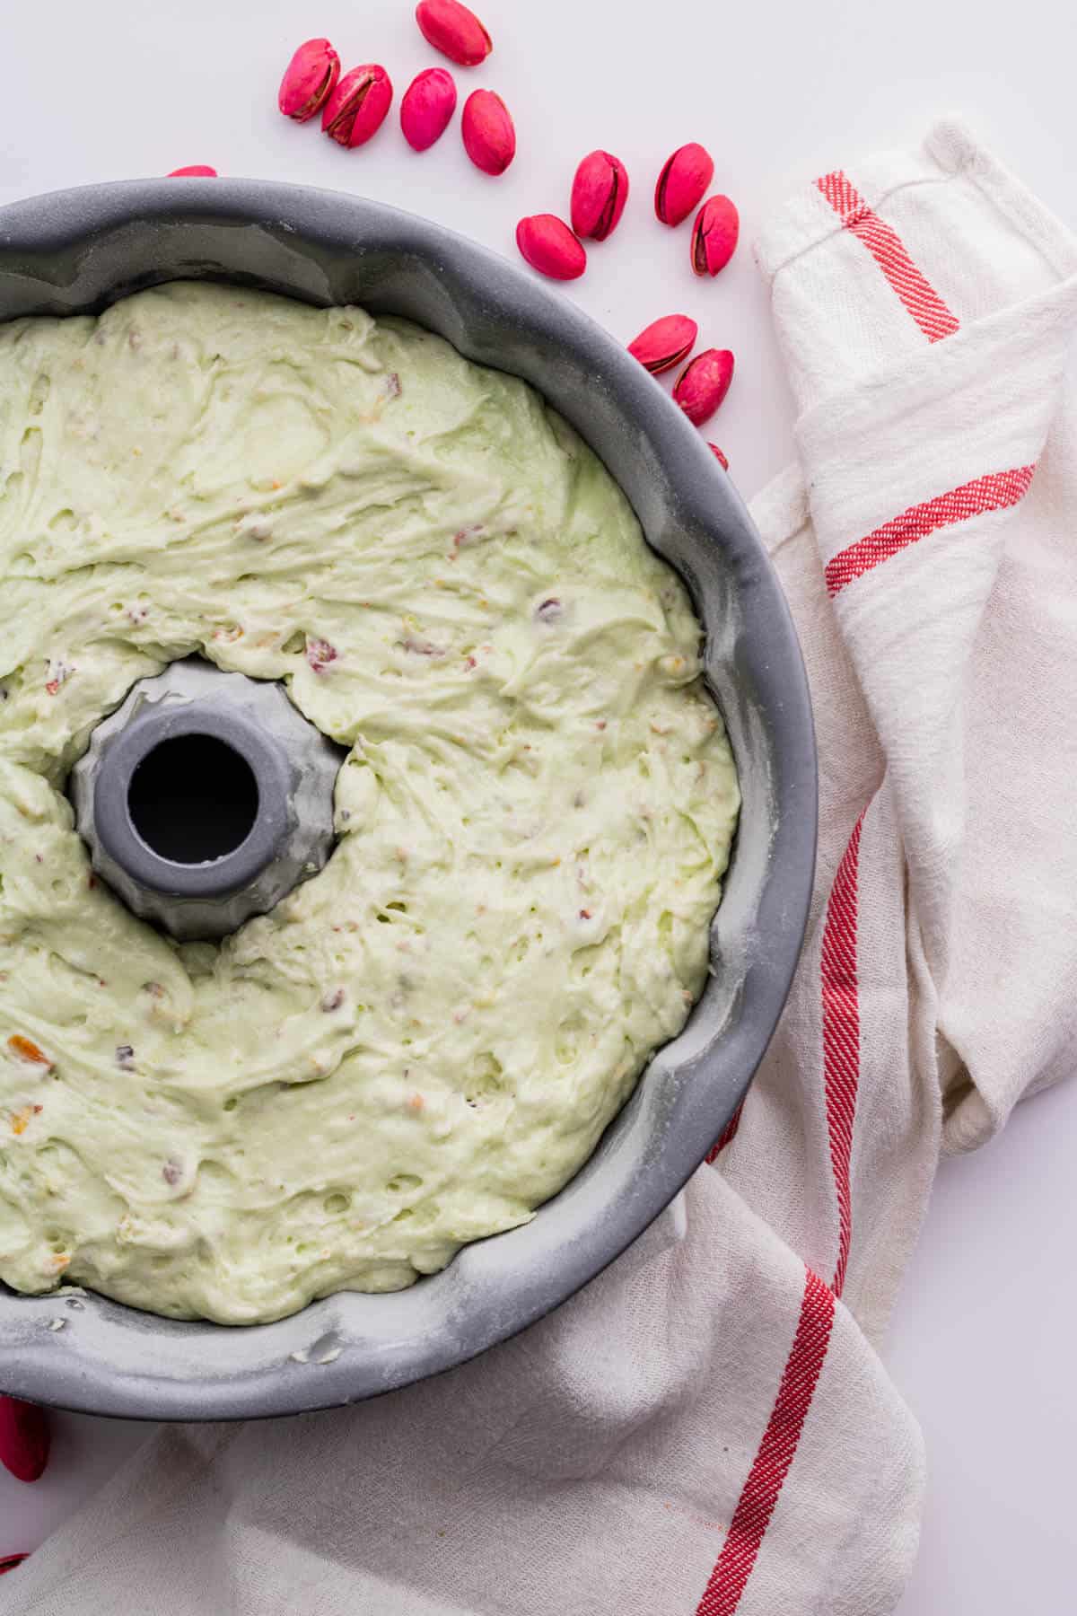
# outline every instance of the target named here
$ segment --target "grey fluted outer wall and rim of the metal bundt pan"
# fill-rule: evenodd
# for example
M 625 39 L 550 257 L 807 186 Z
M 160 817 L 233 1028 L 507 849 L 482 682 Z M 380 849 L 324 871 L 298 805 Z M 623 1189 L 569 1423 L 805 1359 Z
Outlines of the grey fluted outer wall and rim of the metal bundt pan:
M 373 1396 L 481 1353 L 591 1280 L 677 1194 L 744 1094 L 790 987 L 815 855 L 811 706 L 773 570 L 701 435 L 614 338 L 473 242 L 334 192 L 131 181 L 0 208 L 0 318 L 86 314 L 142 286 L 207 276 L 407 315 L 546 394 L 693 593 L 743 810 L 702 1000 L 591 1160 L 525 1228 L 467 1246 L 409 1291 L 341 1293 L 245 1328 L 0 1286 L 3 1391 L 149 1419 Z M 48 1328 L 57 1314 L 66 1328 Z

